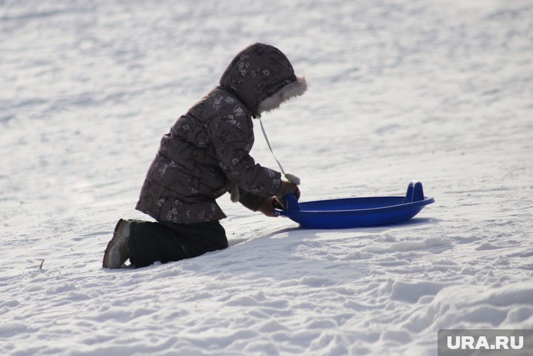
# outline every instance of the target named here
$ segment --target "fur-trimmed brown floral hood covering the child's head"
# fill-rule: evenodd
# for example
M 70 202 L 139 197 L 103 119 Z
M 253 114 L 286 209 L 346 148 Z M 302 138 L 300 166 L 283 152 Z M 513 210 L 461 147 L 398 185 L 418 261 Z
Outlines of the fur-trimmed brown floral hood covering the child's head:
M 252 44 L 235 56 L 220 78 L 220 86 L 233 91 L 253 117 L 276 109 L 285 100 L 302 95 L 306 77 L 295 74 L 288 58 L 274 46 Z

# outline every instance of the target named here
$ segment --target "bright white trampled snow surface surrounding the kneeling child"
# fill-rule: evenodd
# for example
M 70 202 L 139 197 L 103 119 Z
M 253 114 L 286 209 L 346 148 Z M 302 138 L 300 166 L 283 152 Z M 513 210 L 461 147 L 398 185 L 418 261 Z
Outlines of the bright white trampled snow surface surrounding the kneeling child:
M 0 354 L 436 355 L 438 329 L 533 329 L 532 19 L 530 0 L 1 1 Z M 436 203 L 301 230 L 225 195 L 229 249 L 102 270 L 161 136 L 255 41 L 311 83 L 264 116 L 302 201 L 420 180 Z

